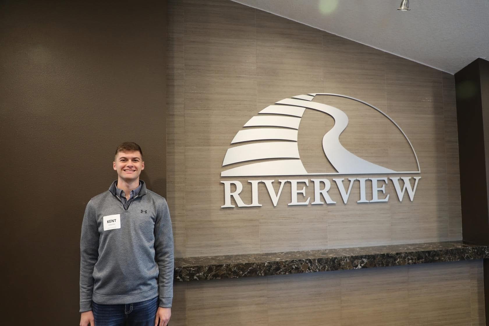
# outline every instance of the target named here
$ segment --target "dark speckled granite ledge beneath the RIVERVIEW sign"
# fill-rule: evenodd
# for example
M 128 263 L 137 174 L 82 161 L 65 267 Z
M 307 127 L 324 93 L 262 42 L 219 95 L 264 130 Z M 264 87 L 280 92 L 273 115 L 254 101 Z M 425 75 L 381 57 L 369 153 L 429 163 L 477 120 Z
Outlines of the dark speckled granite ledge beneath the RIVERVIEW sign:
M 489 246 L 462 241 L 290 251 L 175 259 L 175 281 L 294 273 L 489 258 Z

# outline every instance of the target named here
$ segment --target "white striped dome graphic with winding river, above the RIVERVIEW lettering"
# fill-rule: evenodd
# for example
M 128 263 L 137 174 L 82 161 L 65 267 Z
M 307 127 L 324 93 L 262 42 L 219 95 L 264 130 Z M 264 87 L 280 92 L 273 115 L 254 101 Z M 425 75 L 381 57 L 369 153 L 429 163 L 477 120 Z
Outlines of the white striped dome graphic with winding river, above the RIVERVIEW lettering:
M 333 106 L 311 102 L 316 95 L 332 95 L 352 99 L 376 109 L 389 119 L 404 135 L 413 151 L 418 171 L 394 171 L 383 166 L 364 160 L 345 149 L 339 135 L 348 126 L 348 116 L 345 112 Z M 326 113 L 333 117 L 334 126 L 326 132 L 322 139 L 322 149 L 326 157 L 336 169 L 336 173 L 308 173 L 299 156 L 297 135 L 301 118 L 306 109 Z M 222 171 L 221 176 L 267 176 L 267 175 L 323 175 L 323 174 L 392 174 L 420 173 L 420 165 L 416 152 L 400 127 L 376 107 L 353 97 L 332 93 L 311 93 L 283 99 L 261 110 L 258 115 L 251 117 L 244 124 L 244 129 L 236 133 L 231 145 L 237 145 L 227 150 L 222 166 L 248 163 Z M 263 142 L 270 140 L 269 142 Z M 255 141 L 255 142 L 253 142 Z

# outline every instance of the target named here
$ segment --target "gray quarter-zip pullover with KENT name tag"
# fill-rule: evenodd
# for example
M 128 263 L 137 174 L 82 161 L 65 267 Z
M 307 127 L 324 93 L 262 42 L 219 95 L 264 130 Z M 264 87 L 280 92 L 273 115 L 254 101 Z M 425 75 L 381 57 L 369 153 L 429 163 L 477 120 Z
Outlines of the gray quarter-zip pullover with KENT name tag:
M 165 198 L 146 189 L 124 209 L 115 181 L 90 199 L 80 240 L 80 312 L 97 304 L 173 298 L 173 234 Z

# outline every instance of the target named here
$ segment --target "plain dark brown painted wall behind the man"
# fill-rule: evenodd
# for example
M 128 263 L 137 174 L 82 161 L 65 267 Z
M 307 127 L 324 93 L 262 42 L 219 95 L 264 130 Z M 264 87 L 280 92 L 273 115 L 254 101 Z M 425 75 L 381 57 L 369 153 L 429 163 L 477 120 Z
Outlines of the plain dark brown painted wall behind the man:
M 3 325 L 77 325 L 83 212 L 120 142 L 165 196 L 166 1 L 113 3 L 1 1 Z

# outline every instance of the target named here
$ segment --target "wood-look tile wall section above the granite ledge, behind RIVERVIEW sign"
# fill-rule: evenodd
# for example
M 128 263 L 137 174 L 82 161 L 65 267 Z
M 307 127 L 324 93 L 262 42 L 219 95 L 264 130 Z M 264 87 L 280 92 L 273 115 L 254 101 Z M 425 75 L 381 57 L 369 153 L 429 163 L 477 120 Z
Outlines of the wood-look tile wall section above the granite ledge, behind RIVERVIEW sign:
M 167 199 L 177 256 L 462 238 L 452 75 L 228 0 L 171 0 L 168 13 Z M 388 183 L 388 202 L 356 203 L 357 182 L 347 205 L 333 184 L 336 204 L 294 207 L 287 183 L 276 207 L 260 184 L 262 207 L 221 208 L 222 159 L 236 132 L 268 105 L 311 92 L 361 99 L 400 126 L 422 171 L 413 202 L 407 194 L 400 202 Z M 417 170 L 400 130 L 379 112 L 344 98 L 314 101 L 347 113 L 346 149 L 396 171 Z M 298 147 L 308 172 L 334 172 L 318 141 L 333 125 L 305 111 Z M 279 178 L 301 176 L 267 177 Z M 233 179 L 249 203 L 253 178 Z M 312 182 L 306 192 L 313 196 Z M 371 192 L 367 186 L 367 198 Z

